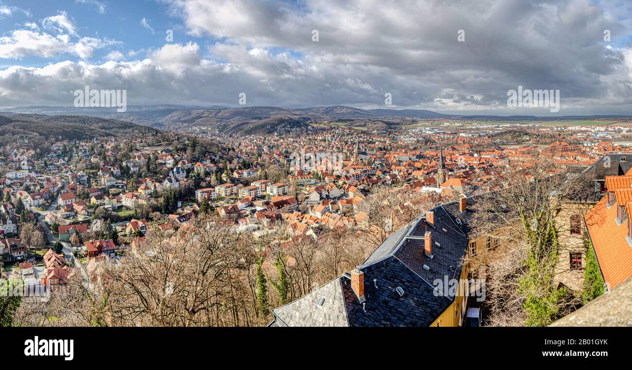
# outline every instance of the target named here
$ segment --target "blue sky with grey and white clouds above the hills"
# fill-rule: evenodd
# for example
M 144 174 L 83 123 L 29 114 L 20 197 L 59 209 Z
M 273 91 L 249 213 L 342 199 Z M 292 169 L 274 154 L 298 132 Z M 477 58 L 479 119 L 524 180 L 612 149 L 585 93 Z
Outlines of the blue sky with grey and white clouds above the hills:
M 557 115 L 632 115 L 632 2 L 0 0 L 1 108 L 86 85 L 128 105 L 556 115 L 507 107 L 520 85 L 559 90 Z

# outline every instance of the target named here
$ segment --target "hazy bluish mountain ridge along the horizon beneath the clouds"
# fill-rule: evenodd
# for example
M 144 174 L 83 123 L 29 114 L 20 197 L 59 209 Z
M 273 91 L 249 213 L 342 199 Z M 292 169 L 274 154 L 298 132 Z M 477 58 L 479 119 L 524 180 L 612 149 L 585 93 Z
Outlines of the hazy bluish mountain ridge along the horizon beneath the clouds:
M 388 127 L 398 122 L 411 119 L 465 119 L 489 121 L 548 121 L 569 119 L 609 118 L 621 119 L 632 116 L 489 116 L 489 115 L 454 115 L 442 114 L 432 110 L 422 109 L 360 109 L 344 105 L 325 107 L 199 107 L 186 105 L 130 105 L 126 112 L 116 112 L 116 108 L 76 108 L 76 107 L 48 107 L 34 105 L 30 107 L 16 107 L 0 110 L 0 114 L 54 114 L 54 115 L 82 115 L 102 117 L 118 121 L 131 122 L 157 129 L 186 129 L 191 127 L 205 127 L 217 129 L 225 133 L 246 133 L 269 131 L 279 125 L 296 127 L 308 124 L 310 121 L 373 121 L 378 125 Z M 258 128 L 258 129 L 257 129 Z

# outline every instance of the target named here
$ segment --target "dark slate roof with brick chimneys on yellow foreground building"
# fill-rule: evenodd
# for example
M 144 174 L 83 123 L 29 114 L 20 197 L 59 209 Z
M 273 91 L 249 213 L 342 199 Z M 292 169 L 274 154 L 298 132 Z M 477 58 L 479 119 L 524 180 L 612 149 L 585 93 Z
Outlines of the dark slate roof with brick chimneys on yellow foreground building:
M 470 198 L 468 198 L 469 201 Z M 468 210 L 451 215 L 444 208 L 432 209 L 434 226 L 425 220 L 425 213 L 394 232 L 375 249 L 358 268 L 364 273 L 365 301 L 360 302 L 351 289 L 351 278 L 344 274 L 310 294 L 272 310 L 275 316 L 269 326 L 428 326 L 435 321 L 454 297 L 435 289 L 435 279 L 458 278 L 468 245 L 465 224 L 456 218 L 470 219 Z M 445 230 L 445 231 L 444 231 Z M 432 232 L 433 258 L 424 253 L 421 237 Z M 407 237 L 409 236 L 409 237 Z M 435 246 L 437 241 L 441 246 Z M 425 270 L 427 265 L 430 270 Z M 375 281 L 374 281 L 375 279 Z M 396 289 L 401 287 L 404 294 Z M 320 297 L 325 301 L 317 306 Z

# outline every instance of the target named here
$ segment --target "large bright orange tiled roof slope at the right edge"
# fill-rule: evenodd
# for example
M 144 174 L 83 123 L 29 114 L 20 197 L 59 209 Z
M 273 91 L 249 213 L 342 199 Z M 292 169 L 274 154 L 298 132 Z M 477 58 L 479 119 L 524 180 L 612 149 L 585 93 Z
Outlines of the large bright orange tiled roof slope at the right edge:
M 604 280 L 612 289 L 632 276 L 632 247 L 626 240 L 628 223 L 617 225 L 617 207 L 608 208 L 607 200 L 604 196 L 586 213 L 586 226 Z

